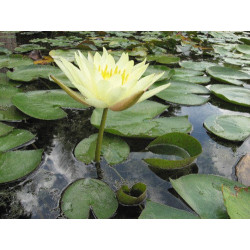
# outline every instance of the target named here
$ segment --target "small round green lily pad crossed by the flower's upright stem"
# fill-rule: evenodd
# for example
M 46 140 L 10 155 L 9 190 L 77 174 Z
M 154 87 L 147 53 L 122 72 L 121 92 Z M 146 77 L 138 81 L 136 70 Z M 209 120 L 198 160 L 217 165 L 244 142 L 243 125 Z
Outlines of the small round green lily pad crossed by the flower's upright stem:
M 95 149 L 98 134 L 93 134 L 80 141 L 75 148 L 77 160 L 86 164 L 95 159 Z M 128 144 L 120 137 L 104 135 L 102 141 L 101 155 L 110 165 L 118 164 L 128 158 L 130 149 Z

